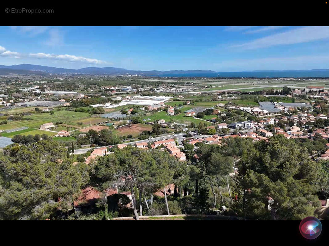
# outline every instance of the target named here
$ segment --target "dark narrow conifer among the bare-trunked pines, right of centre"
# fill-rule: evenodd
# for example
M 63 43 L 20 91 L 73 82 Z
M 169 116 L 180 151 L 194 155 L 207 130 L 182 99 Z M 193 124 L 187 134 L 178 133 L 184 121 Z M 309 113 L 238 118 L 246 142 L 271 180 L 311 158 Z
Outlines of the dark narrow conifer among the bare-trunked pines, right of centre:
M 196 203 L 198 205 L 199 213 L 203 214 L 209 210 L 209 179 L 206 174 L 206 166 L 201 162 L 201 176 L 198 184 L 198 194 Z

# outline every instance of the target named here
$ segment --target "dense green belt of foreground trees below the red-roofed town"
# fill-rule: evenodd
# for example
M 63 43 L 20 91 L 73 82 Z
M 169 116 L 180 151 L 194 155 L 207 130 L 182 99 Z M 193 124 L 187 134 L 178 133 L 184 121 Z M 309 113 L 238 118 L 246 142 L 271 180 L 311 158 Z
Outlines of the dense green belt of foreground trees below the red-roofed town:
M 113 140 L 108 130 L 102 131 L 101 137 L 93 132 L 88 137 L 99 143 Z M 227 215 L 249 219 L 301 219 L 314 216 L 318 199 L 329 197 L 329 162 L 312 161 L 307 145 L 282 135 L 269 142 L 229 138 L 221 146 L 197 143 L 196 151 L 184 143 L 187 162 L 166 151 L 129 146 L 89 165 L 82 155 L 65 154 L 55 141 L 30 138 L 18 139 L 22 145 L 13 144 L 0 154 L 2 219 L 56 219 L 57 209 L 67 213 L 86 186 L 105 191 L 117 185 L 130 191 L 135 209 L 120 213 L 133 213 L 137 219 L 145 214 L 211 214 L 211 208 L 222 205 Z M 69 149 L 74 152 L 73 144 Z M 238 172 L 230 176 L 233 166 Z M 153 195 L 169 183 L 175 184 L 173 195 Z M 105 198 L 94 213 L 67 218 L 104 219 L 123 211 L 115 202 L 122 197 Z

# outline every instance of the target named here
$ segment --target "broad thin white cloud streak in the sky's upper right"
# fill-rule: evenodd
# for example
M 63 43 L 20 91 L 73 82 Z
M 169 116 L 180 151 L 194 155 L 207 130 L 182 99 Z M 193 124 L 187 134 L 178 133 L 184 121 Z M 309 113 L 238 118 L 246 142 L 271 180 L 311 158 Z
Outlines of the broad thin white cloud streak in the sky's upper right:
M 231 46 L 231 48 L 252 50 L 271 47 L 275 45 L 307 43 L 324 38 L 329 38 L 329 26 L 302 27 L 290 31 L 273 34 L 264 38 L 259 38 L 248 43 L 233 45 Z

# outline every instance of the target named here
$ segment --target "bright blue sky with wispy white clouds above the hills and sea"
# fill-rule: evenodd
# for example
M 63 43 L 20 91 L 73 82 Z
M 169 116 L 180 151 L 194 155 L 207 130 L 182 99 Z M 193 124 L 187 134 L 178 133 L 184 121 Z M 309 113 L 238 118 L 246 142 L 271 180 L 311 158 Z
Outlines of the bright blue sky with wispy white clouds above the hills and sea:
M 0 27 L 0 64 L 130 70 L 329 69 L 329 27 Z

